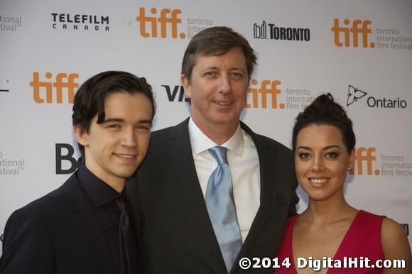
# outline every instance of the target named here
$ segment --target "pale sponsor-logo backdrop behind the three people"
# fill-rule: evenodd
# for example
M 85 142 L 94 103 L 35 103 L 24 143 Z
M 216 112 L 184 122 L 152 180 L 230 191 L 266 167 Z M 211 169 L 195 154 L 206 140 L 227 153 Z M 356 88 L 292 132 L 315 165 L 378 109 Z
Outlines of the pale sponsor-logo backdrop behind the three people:
M 332 93 L 357 135 L 348 202 L 409 235 L 411 13 L 409 0 L 1 0 L 0 234 L 14 210 L 75 171 L 71 109 L 82 82 L 104 70 L 144 76 L 156 94 L 153 130 L 178 124 L 189 115 L 180 85 L 188 41 L 229 26 L 259 53 L 242 120 L 290 147 L 296 115 Z M 308 198 L 298 192 L 302 212 Z

